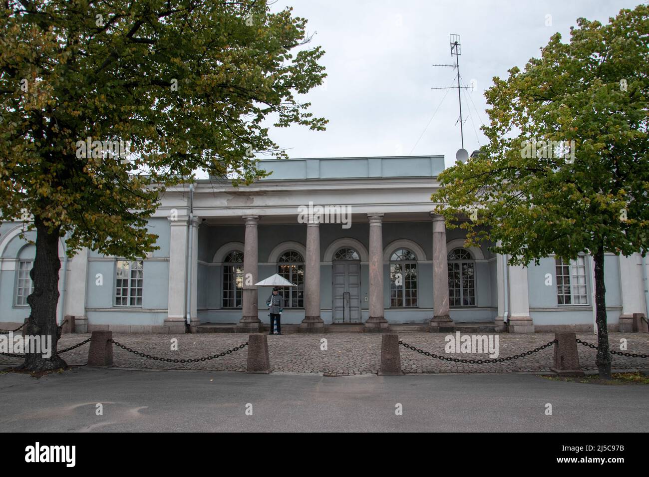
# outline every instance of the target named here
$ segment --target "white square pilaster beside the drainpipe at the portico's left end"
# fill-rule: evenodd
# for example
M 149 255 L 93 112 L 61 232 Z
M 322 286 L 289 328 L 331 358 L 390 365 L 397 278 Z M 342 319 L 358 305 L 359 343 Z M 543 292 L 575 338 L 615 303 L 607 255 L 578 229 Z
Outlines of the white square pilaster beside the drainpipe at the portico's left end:
M 168 333 L 185 332 L 188 221 L 187 216 L 169 217 L 169 301 L 164 321 Z

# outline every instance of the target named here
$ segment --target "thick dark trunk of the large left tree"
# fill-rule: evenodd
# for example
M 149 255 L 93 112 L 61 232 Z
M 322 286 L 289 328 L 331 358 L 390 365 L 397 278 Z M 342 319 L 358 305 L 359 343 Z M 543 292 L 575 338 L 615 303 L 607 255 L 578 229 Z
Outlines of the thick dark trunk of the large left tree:
M 34 282 L 34 291 L 27 297 L 31 306 L 29 320 L 25 324 L 25 336 L 40 336 L 41 341 L 51 336 L 51 356 L 43 358 L 42 352 L 25 353 L 25 367 L 30 371 L 52 371 L 67 366 L 66 361 L 56 354 L 56 345 L 61 330 L 56 326 L 58 306 L 58 271 L 61 261 L 58 257 L 60 229 L 49 231 L 39 217 L 36 225 L 36 259 L 29 276 Z

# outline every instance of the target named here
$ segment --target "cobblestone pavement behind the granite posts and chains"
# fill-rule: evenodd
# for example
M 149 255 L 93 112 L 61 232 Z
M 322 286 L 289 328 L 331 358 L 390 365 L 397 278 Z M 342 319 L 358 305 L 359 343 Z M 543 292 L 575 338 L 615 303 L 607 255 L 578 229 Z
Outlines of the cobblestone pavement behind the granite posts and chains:
M 488 359 L 488 354 L 445 354 L 446 333 L 410 332 L 399 338 L 419 349 L 434 352 L 440 356 L 465 358 L 469 360 Z M 506 358 L 532 350 L 554 339 L 554 334 L 497 334 L 498 358 Z M 59 341 L 58 349 L 67 348 L 90 337 L 89 334 L 66 334 Z M 114 339 L 134 350 L 164 358 L 201 358 L 223 352 L 247 341 L 245 334 L 114 334 Z M 578 334 L 578 338 L 596 344 L 593 334 Z M 178 350 L 171 350 L 171 339 L 178 339 Z M 321 350 L 325 338 L 327 350 Z M 609 333 L 611 349 L 620 350 L 620 339 L 626 338 L 627 352 L 649 354 L 649 334 Z M 378 373 L 381 351 L 381 337 L 378 334 L 285 334 L 268 337 L 271 367 L 275 372 L 324 373 L 329 376 Z M 85 364 L 88 347 L 83 345 L 62 356 L 71 365 Z M 596 369 L 596 350 L 578 345 L 582 369 Z M 508 373 L 513 371 L 549 371 L 554 356 L 554 347 L 548 347 L 530 356 L 502 363 L 463 364 L 442 361 L 400 347 L 401 367 L 405 373 Z M 212 371 L 245 371 L 247 349 L 210 361 L 197 363 L 164 363 L 147 360 L 123 349 L 114 348 L 114 366 L 147 369 L 206 369 Z M 0 364 L 18 364 L 19 358 L 0 356 Z M 627 358 L 613 356 L 613 369 L 649 368 L 648 358 Z

